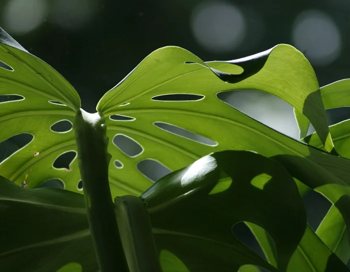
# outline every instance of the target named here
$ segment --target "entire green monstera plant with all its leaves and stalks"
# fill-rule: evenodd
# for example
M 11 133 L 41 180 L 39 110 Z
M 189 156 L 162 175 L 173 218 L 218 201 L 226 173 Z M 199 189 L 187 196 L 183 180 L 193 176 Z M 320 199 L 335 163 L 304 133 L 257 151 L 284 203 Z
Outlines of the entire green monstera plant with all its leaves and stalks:
M 325 109 L 350 106 L 350 80 L 319 88 L 289 45 L 214 62 L 164 47 L 87 113 L 58 72 L 3 30 L 0 62 L 0 95 L 12 98 L 0 103 L 0 141 L 29 137 L 0 163 L 0 271 L 348 271 L 350 125 L 328 128 Z M 302 139 L 217 97 L 251 89 L 289 103 Z M 72 128 L 55 130 L 62 122 Z M 56 167 L 67 152 L 69 167 Z M 172 172 L 153 182 L 137 167 L 149 159 Z M 65 190 L 37 188 L 51 179 Z M 332 202 L 315 232 L 302 203 L 309 190 Z M 264 258 L 233 235 L 239 222 Z

